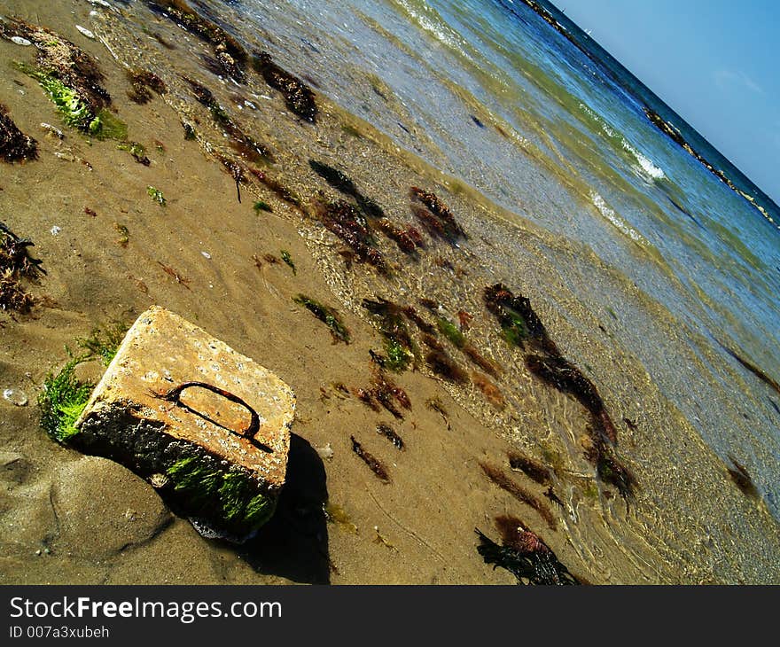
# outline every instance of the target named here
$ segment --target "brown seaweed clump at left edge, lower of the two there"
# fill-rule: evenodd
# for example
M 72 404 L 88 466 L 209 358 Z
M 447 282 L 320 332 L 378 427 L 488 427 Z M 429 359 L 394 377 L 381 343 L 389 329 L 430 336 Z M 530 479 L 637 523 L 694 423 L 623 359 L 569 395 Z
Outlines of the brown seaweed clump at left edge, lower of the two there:
M 45 274 L 41 261 L 29 255 L 27 247 L 33 242 L 19 238 L 0 222 L 0 309 L 15 310 L 22 314 L 29 312 L 35 300 L 20 284 L 25 277 L 35 280 Z

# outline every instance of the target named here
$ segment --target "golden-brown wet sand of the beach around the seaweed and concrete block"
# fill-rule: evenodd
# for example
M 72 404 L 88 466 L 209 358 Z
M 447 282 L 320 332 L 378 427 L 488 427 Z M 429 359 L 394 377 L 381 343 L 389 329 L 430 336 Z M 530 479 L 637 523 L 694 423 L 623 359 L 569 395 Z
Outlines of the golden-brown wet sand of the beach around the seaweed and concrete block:
M 479 528 L 498 542 L 494 519 L 507 514 L 521 518 L 582 581 L 780 581 L 780 540 L 765 504 L 729 480 L 722 461 L 660 396 L 630 349 L 610 347 L 608 339 L 592 343 L 602 335 L 599 323 L 610 323 L 578 305 L 577 290 L 587 287 L 587 278 L 578 286 L 558 277 L 557 263 L 569 249 L 530 223 L 507 222 L 500 209 L 395 149 L 322 94 L 316 94 L 316 124 L 302 121 L 258 74 L 250 73 L 243 86 L 222 82 L 202 64 L 200 55 L 210 53 L 206 43 L 143 6 L 132 13 L 116 6 L 127 14 L 87 3 L 4 3 L 5 15 L 55 29 L 98 59 L 129 139 L 144 144 L 151 164 L 136 163 L 116 142 L 90 141 L 61 126 L 37 83 L 0 68 L 3 103 L 39 142 L 38 160 L 3 164 L 0 220 L 32 238 L 33 255 L 47 270 L 30 285 L 38 299 L 30 315 L 0 314 L 0 386 L 20 388 L 29 399 L 22 407 L 0 401 L 0 581 L 511 584 L 511 573 L 484 563 L 474 533 Z M 98 15 L 90 17 L 93 9 Z M 76 24 L 98 39 L 80 34 Z M 32 50 L 0 41 L 3 60 L 30 61 Z M 168 92 L 136 105 L 127 97 L 124 66 L 152 70 Z M 300 196 L 302 208 L 251 182 L 242 185 L 238 201 L 235 180 L 214 154 L 234 153 L 191 98 L 182 74 L 206 85 L 269 147 L 275 161 L 267 173 Z M 197 140 L 184 138 L 183 120 L 195 124 Z M 61 127 L 65 139 L 46 136 L 42 121 Z M 392 277 L 367 263 L 347 267 L 339 255 L 344 246 L 313 217 L 312 207 L 319 191 L 343 196 L 312 171 L 310 159 L 341 168 L 394 222 L 414 222 L 409 187 L 435 191 L 468 240 L 454 247 L 428 239 L 413 261 L 379 237 Z M 150 185 L 163 192 L 165 207 L 147 194 Z M 255 212 L 254 200 L 267 202 L 272 212 Z M 127 246 L 119 242 L 118 225 L 128 230 Z M 491 272 L 491 254 L 503 253 L 495 241 L 508 239 L 522 284 Z M 264 259 L 280 259 L 282 250 L 294 273 L 284 262 Z M 592 259 L 570 261 L 583 277 L 597 267 Z M 597 280 L 608 281 L 601 270 Z M 534 378 L 523 355 L 501 339 L 482 302 L 484 286 L 497 281 L 527 294 L 564 355 L 589 367 L 619 426 L 620 458 L 639 483 L 630 501 L 597 479 L 583 458 L 589 417 L 581 404 Z M 545 298 L 550 292 L 566 308 L 552 307 Z M 327 328 L 293 302 L 299 293 L 337 308 L 351 343 L 334 343 Z M 460 309 L 470 313 L 468 339 L 503 369 L 495 379 L 503 406 L 472 384 L 442 380 L 424 362 L 393 375 L 411 401 L 402 421 L 339 389 L 370 385 L 369 351 L 380 351 L 383 342 L 361 303 L 377 297 L 414 304 L 429 318 L 418 305 L 421 297 L 441 302 L 452 318 Z M 65 347 L 97 325 L 131 323 L 152 304 L 275 371 L 297 395 L 285 494 L 275 518 L 244 546 L 200 536 L 142 479 L 58 446 L 38 425 L 35 398 L 46 374 L 66 362 Z M 651 310 L 638 297 L 626 305 Z M 663 323 L 662 313 L 651 315 Z M 675 347 L 674 331 L 670 339 Z M 456 349 L 448 352 L 473 375 Z M 79 370 L 95 380 L 102 367 L 91 362 Z M 425 406 L 432 398 L 441 400 L 446 419 Z M 379 423 L 394 426 L 403 451 L 376 433 Z M 355 456 L 350 436 L 386 465 L 389 483 Z M 332 456 L 323 458 L 316 450 L 327 446 Z M 511 471 L 511 451 L 550 465 L 561 506 L 544 496 L 546 487 Z M 480 464 L 500 466 L 541 501 L 556 529 L 496 487 Z M 325 517 L 326 502 L 344 511 L 340 522 Z

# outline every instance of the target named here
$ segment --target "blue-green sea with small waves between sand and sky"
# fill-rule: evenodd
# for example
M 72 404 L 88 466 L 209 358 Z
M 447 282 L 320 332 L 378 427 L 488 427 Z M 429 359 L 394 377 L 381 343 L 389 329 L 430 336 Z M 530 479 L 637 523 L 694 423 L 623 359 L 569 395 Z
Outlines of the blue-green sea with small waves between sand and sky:
M 232 5 L 336 103 L 620 275 L 573 277 L 587 307 L 620 310 L 623 285 L 664 308 L 698 361 L 667 355 L 652 323 L 620 328 L 620 343 L 780 517 L 780 397 L 723 348 L 780 380 L 780 210 L 760 189 L 550 4 L 581 48 L 520 0 Z M 516 273 L 511 250 L 495 262 Z

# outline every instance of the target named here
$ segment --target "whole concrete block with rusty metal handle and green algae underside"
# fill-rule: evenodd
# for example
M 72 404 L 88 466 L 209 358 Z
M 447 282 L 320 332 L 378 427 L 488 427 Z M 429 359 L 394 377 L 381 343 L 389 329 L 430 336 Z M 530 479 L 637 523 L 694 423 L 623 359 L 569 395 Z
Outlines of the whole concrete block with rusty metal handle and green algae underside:
M 271 371 L 155 306 L 128 331 L 69 444 L 129 467 L 238 538 L 274 511 L 294 409 Z

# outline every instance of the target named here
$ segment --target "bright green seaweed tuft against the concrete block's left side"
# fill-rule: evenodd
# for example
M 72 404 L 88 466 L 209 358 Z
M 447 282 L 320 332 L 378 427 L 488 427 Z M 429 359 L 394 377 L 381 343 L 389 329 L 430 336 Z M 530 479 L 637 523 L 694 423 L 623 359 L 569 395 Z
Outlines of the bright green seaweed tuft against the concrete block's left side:
M 83 358 L 72 358 L 57 375 L 49 373 L 43 380 L 43 392 L 38 396 L 41 426 L 53 440 L 66 443 L 79 430 L 76 420 L 90 400 L 92 385 L 75 377 L 75 367 Z

